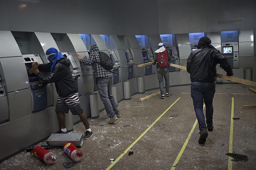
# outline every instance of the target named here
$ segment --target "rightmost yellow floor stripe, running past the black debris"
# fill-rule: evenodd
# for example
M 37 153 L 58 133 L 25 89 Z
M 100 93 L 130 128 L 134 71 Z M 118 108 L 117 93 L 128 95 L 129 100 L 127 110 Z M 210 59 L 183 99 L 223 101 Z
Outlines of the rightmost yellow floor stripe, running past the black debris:
M 234 124 L 233 117 L 234 117 L 234 98 L 232 97 L 228 153 L 233 152 L 233 124 Z M 232 170 L 232 160 L 231 159 L 232 159 L 232 157 L 228 156 L 228 170 Z

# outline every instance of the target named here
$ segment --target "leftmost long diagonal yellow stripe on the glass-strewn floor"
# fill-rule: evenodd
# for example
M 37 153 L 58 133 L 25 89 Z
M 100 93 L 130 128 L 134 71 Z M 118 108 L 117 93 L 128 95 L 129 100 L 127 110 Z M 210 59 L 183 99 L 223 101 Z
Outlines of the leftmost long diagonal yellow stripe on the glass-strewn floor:
M 162 116 L 164 116 L 164 114 L 176 103 L 178 102 L 178 100 L 180 99 L 180 97 L 174 102 L 172 103 L 172 105 L 170 105 L 169 108 L 167 108 L 167 110 L 164 111 L 164 113 L 162 113 L 157 119 L 156 121 L 154 121 L 116 160 L 114 163 L 110 164 L 109 167 L 107 167 L 106 170 L 110 170 L 117 162 L 118 160 L 120 160 L 132 147 L 133 145 L 135 145 L 146 133 L 147 131 L 149 131 L 149 129 L 151 129 L 152 126 L 154 126 L 154 124 L 156 124 L 156 122 L 162 118 Z

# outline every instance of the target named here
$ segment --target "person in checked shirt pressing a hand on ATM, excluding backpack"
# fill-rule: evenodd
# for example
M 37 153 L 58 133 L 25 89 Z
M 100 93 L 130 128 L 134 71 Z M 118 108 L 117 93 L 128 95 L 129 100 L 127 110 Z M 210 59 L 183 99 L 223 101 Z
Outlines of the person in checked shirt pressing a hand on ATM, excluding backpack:
M 109 123 L 112 124 L 117 118 L 120 118 L 120 113 L 117 108 L 117 103 L 112 95 L 112 73 L 109 70 L 101 67 L 100 63 L 100 50 L 97 44 L 92 44 L 90 48 L 90 54 L 88 60 L 83 60 L 80 54 L 76 54 L 76 57 L 82 65 L 91 65 L 94 74 L 96 76 L 96 84 L 100 99 L 104 104 L 107 116 L 109 117 Z

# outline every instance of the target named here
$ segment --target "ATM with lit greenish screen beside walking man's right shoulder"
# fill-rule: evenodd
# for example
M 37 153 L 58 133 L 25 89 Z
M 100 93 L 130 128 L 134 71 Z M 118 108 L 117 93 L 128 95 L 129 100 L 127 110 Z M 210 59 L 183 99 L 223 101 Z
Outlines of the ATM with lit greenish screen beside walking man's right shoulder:
M 232 68 L 239 68 L 238 42 L 222 43 L 222 54 Z

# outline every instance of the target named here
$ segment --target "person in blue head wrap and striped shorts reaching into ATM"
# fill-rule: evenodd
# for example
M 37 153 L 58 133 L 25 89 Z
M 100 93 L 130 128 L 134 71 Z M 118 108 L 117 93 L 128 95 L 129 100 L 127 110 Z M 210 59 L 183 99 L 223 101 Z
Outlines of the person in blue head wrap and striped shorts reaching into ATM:
M 84 133 L 84 140 L 87 140 L 93 136 L 92 130 L 90 129 L 87 117 L 84 114 L 83 109 L 80 106 L 78 98 L 78 86 L 73 79 L 70 72 L 70 60 L 65 58 L 61 52 L 58 52 L 55 48 L 49 48 L 46 51 L 47 60 L 49 63 L 40 64 L 37 68 L 37 62 L 32 63 L 34 67 L 34 73 L 46 83 L 55 83 L 56 91 L 58 93 L 56 113 L 60 123 L 61 133 L 67 133 L 65 126 L 65 114 L 68 110 L 73 115 L 78 115 L 86 127 Z M 47 75 L 43 72 L 50 72 Z

